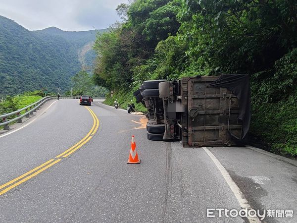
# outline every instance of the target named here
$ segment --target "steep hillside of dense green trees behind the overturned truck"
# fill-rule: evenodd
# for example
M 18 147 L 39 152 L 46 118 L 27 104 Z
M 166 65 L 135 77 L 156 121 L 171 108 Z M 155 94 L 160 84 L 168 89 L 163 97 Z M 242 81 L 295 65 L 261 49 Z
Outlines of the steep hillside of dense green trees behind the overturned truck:
M 144 80 L 248 73 L 250 138 L 297 155 L 296 0 L 131 2 L 96 40 L 99 85 L 126 104 Z

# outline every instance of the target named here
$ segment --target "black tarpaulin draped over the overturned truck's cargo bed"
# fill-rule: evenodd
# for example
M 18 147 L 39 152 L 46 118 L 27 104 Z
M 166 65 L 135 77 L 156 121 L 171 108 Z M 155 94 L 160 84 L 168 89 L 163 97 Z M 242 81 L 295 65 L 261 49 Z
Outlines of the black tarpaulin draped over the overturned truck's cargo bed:
M 248 74 L 229 74 L 221 75 L 216 81 L 208 85 L 208 87 L 222 87 L 232 91 L 239 99 L 239 116 L 243 122 L 243 137 L 238 138 L 229 132 L 236 139 L 244 139 L 247 135 L 250 124 L 250 88 Z

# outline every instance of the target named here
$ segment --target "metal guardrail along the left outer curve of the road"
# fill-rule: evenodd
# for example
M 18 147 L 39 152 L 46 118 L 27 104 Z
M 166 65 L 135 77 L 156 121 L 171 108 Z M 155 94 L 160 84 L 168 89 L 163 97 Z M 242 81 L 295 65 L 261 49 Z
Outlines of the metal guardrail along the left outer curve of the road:
M 62 95 L 60 96 L 60 99 L 80 99 L 81 96 L 65 96 Z M 52 99 L 57 99 L 57 96 L 47 96 L 45 98 L 42 98 L 41 100 L 26 106 L 25 108 L 22 108 L 20 110 L 17 111 L 12 111 L 10 113 L 7 114 L 2 114 L 0 115 L 0 119 L 2 119 L 2 123 L 0 123 L 0 126 L 4 126 L 4 130 L 8 130 L 9 129 L 9 124 L 11 122 L 17 121 L 18 123 L 22 123 L 22 118 L 23 117 L 30 117 L 30 114 L 34 114 L 33 112 L 36 112 L 36 110 L 39 110 L 40 107 L 47 101 L 52 100 Z M 94 98 L 94 99 L 105 99 L 105 98 Z M 25 111 L 25 113 L 21 114 L 22 111 Z M 9 116 L 15 115 L 15 118 L 9 119 Z

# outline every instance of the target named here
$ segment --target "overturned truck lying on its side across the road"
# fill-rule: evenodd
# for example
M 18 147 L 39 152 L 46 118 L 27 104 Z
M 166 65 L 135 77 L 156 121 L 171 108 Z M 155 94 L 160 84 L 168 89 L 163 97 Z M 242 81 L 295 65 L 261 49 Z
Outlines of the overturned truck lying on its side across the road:
M 147 137 L 182 141 L 183 147 L 232 146 L 247 135 L 247 74 L 145 81 L 134 92 L 147 109 Z

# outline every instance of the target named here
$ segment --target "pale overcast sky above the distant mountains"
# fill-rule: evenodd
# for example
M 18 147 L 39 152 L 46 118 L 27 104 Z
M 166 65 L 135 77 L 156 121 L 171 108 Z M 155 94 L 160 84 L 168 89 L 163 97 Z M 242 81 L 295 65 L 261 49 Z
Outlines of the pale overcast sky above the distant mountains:
M 127 0 L 0 0 L 0 15 L 29 30 L 103 29 L 120 20 L 115 8 Z

